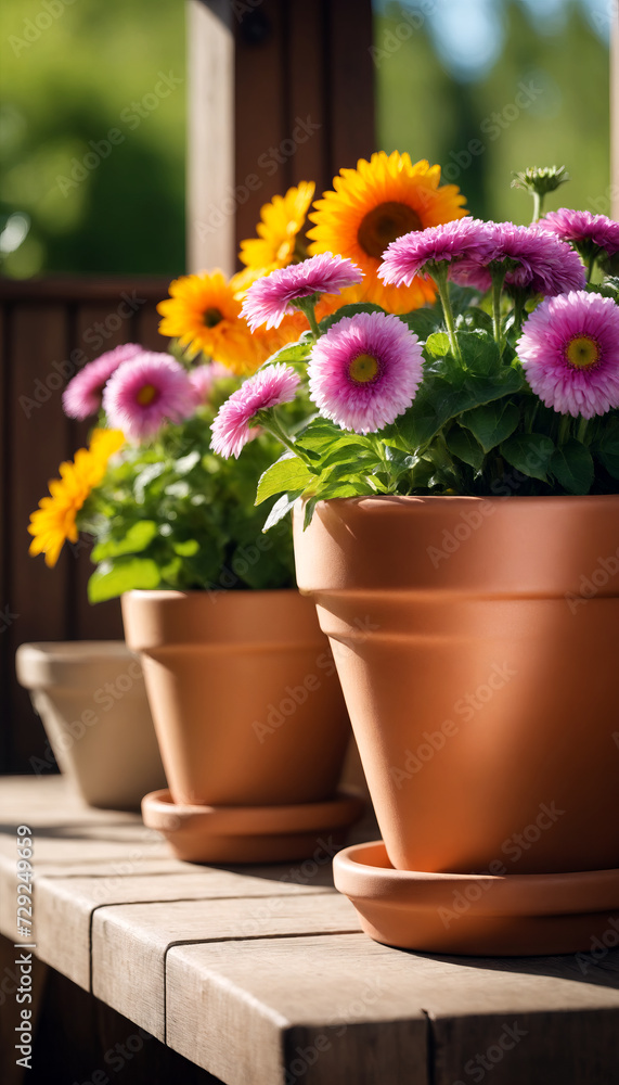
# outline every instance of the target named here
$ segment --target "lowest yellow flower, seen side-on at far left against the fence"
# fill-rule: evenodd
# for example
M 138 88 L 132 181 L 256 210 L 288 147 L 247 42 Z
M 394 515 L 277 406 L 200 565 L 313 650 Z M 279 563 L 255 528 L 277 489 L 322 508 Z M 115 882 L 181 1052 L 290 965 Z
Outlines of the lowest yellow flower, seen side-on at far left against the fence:
M 94 430 L 90 448 L 78 448 L 73 462 L 61 463 L 60 478 L 50 481 L 50 497 L 39 501 L 28 527 L 34 536 L 29 552 L 44 553 L 50 569 L 59 560 L 67 539 L 77 542 L 77 513 L 102 481 L 109 457 L 118 451 L 124 439 L 119 430 Z

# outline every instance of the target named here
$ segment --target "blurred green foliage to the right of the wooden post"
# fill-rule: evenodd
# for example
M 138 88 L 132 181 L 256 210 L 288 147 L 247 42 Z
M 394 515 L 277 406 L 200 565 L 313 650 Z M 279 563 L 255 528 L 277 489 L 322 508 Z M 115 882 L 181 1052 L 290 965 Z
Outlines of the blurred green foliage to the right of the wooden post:
M 436 3 L 378 7 L 379 146 L 440 163 L 443 179 L 461 187 L 475 216 L 529 221 L 530 201 L 510 188 L 513 171 L 564 163 L 572 180 L 549 197 L 546 209 L 567 204 L 609 215 L 609 65 L 603 34 L 576 0 L 564 0 L 563 26 L 552 34 L 540 33 L 520 0 L 494 4 L 504 22 L 502 53 L 488 73 L 466 80 L 454 78 L 437 58 Z

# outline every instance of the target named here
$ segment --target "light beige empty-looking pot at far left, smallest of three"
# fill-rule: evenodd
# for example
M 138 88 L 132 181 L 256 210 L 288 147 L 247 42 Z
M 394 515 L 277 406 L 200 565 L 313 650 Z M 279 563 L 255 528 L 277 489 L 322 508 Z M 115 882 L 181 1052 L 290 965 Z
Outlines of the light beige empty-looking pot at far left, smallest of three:
M 139 809 L 146 792 L 165 787 L 142 668 L 121 640 L 22 644 L 15 663 L 87 803 Z

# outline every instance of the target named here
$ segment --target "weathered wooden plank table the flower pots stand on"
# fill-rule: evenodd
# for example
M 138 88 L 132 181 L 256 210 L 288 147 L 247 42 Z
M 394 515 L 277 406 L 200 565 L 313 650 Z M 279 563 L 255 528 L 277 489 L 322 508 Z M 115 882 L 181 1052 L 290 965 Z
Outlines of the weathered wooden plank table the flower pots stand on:
M 3 778 L 0 821 L 2 934 L 18 941 L 25 824 L 38 957 L 228 1085 L 619 1082 L 618 950 L 391 949 L 334 891 L 328 840 L 292 866 L 180 863 L 60 777 Z

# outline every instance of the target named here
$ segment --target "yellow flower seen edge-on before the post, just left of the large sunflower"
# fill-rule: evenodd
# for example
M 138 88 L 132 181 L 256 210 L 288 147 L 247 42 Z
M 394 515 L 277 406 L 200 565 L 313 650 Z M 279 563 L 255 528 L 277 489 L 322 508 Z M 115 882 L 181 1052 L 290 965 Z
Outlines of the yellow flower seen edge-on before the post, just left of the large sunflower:
M 314 189 L 313 181 L 300 181 L 297 188 L 288 189 L 285 196 L 273 196 L 270 204 L 260 208 L 258 237 L 241 242 L 238 255 L 243 264 L 268 275 L 293 263 L 297 237 L 304 228 Z

